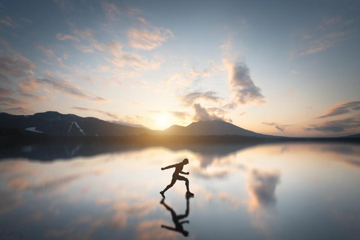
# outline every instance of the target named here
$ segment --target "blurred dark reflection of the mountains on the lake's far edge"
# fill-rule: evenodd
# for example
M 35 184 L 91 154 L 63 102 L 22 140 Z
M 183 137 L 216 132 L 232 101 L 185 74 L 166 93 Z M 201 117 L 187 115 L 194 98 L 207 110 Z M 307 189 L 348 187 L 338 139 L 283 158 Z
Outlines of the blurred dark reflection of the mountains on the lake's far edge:
M 207 166 L 214 157 L 224 157 L 241 149 L 256 144 L 192 144 L 170 145 L 166 148 L 173 151 L 189 150 L 203 156 L 202 166 Z M 211 147 L 209 147 L 211 146 Z M 14 145 L 0 148 L 0 160 L 4 158 L 28 158 L 30 160 L 53 161 L 74 157 L 91 157 L 106 153 L 121 153 L 147 149 L 149 146 L 135 144 L 118 144 L 111 142 L 56 142 L 47 144 Z

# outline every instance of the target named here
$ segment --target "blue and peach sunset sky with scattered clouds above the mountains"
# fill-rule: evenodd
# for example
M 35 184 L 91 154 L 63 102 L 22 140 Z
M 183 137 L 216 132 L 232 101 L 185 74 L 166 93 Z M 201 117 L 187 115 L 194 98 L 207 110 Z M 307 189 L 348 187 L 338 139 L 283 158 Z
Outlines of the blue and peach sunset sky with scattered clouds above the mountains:
M 359 1 L 0 1 L 0 112 L 360 132 Z

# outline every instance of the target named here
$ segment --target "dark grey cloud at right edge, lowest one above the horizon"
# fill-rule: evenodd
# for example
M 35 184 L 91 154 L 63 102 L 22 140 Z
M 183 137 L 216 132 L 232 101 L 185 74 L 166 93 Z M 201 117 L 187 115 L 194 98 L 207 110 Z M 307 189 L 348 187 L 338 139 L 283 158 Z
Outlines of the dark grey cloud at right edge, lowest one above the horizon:
M 320 131 L 320 132 L 343 132 L 346 129 L 360 127 L 359 117 L 345 118 L 335 121 L 325 121 L 316 124 L 310 124 L 303 127 L 305 131 Z

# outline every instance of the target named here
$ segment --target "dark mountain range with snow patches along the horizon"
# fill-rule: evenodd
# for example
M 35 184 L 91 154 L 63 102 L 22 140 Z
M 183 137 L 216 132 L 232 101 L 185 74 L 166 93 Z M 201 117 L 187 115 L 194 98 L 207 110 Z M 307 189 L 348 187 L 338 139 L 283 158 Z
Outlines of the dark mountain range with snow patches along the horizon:
M 108 122 L 94 117 L 80 117 L 75 114 L 58 112 L 35 113 L 33 115 L 12 115 L 0 113 L 0 135 L 47 134 L 54 136 L 133 136 L 150 135 L 238 135 L 247 137 L 279 138 L 238 127 L 221 120 L 193 122 L 188 126 L 173 125 L 163 131 L 151 130 L 140 124 Z M 359 137 L 357 135 L 349 137 Z M 282 137 L 280 137 L 282 138 Z

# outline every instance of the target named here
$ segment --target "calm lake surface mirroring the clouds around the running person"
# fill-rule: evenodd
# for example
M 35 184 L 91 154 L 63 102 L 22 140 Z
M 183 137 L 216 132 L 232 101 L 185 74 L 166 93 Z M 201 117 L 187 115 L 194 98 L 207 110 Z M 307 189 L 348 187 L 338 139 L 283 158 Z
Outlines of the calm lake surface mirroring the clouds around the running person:
M 4 239 L 360 239 L 360 145 L 58 144 L 0 158 Z M 195 196 L 177 181 L 161 202 L 174 172 L 161 167 L 184 158 Z

